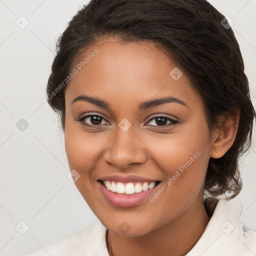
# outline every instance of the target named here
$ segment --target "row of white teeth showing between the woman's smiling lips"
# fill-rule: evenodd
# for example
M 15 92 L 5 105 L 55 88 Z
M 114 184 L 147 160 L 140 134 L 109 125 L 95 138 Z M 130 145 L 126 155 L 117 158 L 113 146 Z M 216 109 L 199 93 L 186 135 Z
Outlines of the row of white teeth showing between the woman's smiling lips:
M 134 182 L 117 182 L 114 180 L 98 180 L 105 185 L 105 187 L 117 194 L 135 194 L 142 191 L 147 191 L 148 189 L 156 186 L 160 181 L 144 182 L 144 181 L 134 181 Z

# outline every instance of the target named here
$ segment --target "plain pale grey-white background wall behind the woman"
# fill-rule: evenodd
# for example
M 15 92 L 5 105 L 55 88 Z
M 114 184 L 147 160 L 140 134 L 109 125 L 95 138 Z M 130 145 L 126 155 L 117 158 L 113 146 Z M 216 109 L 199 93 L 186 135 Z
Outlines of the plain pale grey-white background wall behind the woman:
M 234 20 L 256 105 L 256 1 L 210 2 Z M 0 255 L 28 253 L 96 220 L 66 177 L 63 134 L 45 97 L 55 40 L 83 3 L 87 1 L 0 0 Z M 29 21 L 24 29 L 15 24 L 21 15 Z M 23 131 L 16 127 L 21 118 L 29 124 Z M 228 204 L 256 229 L 253 149 L 240 163 L 242 191 Z M 15 229 L 21 220 L 29 225 L 23 235 Z

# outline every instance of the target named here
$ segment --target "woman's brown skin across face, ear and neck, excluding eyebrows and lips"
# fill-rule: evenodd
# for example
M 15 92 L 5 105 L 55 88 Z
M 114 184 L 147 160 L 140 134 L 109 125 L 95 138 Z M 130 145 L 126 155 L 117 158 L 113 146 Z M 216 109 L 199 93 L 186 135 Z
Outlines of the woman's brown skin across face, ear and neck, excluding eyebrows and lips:
M 65 91 L 65 150 L 70 169 L 80 174 L 75 185 L 109 230 L 113 255 L 184 255 L 209 221 L 203 205 L 209 158 L 221 157 L 232 145 L 237 121 L 227 116 L 223 128 L 210 131 L 199 94 L 184 72 L 178 80 L 169 75 L 177 65 L 153 43 L 108 37 L 86 49 L 80 60 L 95 48 L 98 53 Z M 80 94 L 109 102 L 112 111 L 82 100 L 71 104 Z M 171 102 L 137 108 L 168 95 L 187 107 Z M 103 117 L 94 128 L 75 120 L 91 113 Z M 166 119 L 161 126 L 152 119 L 162 114 L 178 123 L 168 125 Z M 125 132 L 118 126 L 123 118 L 131 124 Z M 93 125 L 90 117 L 83 122 Z M 120 208 L 101 193 L 97 179 L 103 175 L 136 174 L 164 184 L 197 151 L 197 159 L 154 202 Z M 130 226 L 127 233 L 118 228 L 123 221 Z

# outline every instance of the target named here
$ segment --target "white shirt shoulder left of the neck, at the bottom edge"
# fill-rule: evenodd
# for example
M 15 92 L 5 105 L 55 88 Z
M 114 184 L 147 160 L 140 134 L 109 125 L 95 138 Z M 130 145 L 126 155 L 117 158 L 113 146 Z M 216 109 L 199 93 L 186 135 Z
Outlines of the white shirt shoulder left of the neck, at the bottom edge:
M 75 233 L 24 256 L 108 256 L 105 234 L 105 226 L 97 220 Z

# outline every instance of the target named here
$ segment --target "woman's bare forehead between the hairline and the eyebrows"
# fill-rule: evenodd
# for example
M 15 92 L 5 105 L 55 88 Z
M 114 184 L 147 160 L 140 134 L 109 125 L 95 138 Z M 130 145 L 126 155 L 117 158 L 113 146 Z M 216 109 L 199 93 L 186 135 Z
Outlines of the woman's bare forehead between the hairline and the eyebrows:
M 119 105 L 166 95 L 190 102 L 199 99 L 184 73 L 172 78 L 171 70 L 178 67 L 152 42 L 103 39 L 84 50 L 73 67 L 77 74 L 67 86 L 67 103 L 80 94 L 118 100 Z

